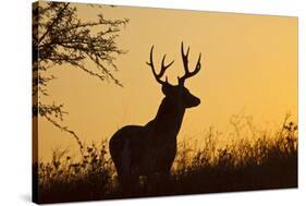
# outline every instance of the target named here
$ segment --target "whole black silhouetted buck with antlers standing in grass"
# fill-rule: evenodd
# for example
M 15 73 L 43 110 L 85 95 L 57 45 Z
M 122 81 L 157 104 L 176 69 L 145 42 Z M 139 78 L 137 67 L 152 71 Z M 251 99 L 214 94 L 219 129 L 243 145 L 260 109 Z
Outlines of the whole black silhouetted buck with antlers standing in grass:
M 109 143 L 111 158 L 114 162 L 119 181 L 122 185 L 138 183 L 139 175 L 151 177 L 156 173 L 169 175 L 172 162 L 176 155 L 176 136 L 180 131 L 186 108 L 196 107 L 200 99 L 192 95 L 184 83 L 188 77 L 196 75 L 200 70 L 200 53 L 196 68 L 188 70 L 188 53 L 181 52 L 185 74 L 178 77 L 179 84 L 171 85 L 161 80 L 166 70 L 174 61 L 164 65 L 166 54 L 161 61 L 161 70 L 156 72 L 154 65 L 154 46 L 150 50 L 150 62 L 156 81 L 161 84 L 164 98 L 159 106 L 157 116 L 146 125 L 126 125 L 114 133 Z

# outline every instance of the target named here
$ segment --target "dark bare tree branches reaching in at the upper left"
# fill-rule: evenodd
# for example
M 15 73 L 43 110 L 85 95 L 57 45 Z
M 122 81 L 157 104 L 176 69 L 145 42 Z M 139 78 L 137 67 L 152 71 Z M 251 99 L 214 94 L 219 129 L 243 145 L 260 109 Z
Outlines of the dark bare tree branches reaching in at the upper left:
M 33 117 L 40 116 L 61 131 L 69 132 L 81 148 L 78 135 L 62 125 L 63 116 L 68 114 L 63 111 L 63 104 L 41 100 L 41 97 L 49 96 L 47 85 L 57 78 L 49 71 L 54 65 L 70 64 L 89 76 L 122 86 L 113 72 L 118 70 L 117 57 L 125 51 L 115 40 L 127 23 L 127 19 L 108 20 L 102 13 L 95 21 L 83 20 L 76 7 L 68 2 L 33 4 Z

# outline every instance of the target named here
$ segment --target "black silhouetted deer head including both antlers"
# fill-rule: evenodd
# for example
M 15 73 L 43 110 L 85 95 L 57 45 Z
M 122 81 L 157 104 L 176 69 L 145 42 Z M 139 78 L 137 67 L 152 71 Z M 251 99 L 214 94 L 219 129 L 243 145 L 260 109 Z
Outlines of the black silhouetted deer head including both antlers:
M 155 65 L 154 65 L 154 58 L 152 58 L 152 52 L 154 52 L 154 46 L 151 47 L 150 50 L 150 62 L 147 62 L 147 64 L 151 68 L 151 72 L 156 78 L 156 81 L 161 84 L 161 90 L 166 96 L 166 99 L 170 102 L 176 102 L 183 108 L 191 108 L 191 107 L 196 107 L 200 104 L 200 99 L 194 96 L 193 94 L 189 93 L 189 90 L 184 86 L 184 83 L 187 78 L 196 75 L 199 70 L 200 70 L 200 57 L 201 53 L 199 53 L 198 60 L 196 68 L 193 72 L 189 71 L 188 69 L 188 54 L 189 54 L 189 47 L 187 48 L 186 53 L 184 52 L 184 45 L 183 43 L 181 44 L 181 52 L 182 52 L 182 60 L 183 60 L 183 65 L 184 65 L 184 71 L 185 74 L 183 76 L 178 76 L 178 85 L 172 85 L 168 82 L 168 77 L 166 76 L 166 81 L 162 81 L 162 76 L 166 72 L 166 70 L 171 66 L 174 62 L 170 62 L 169 64 L 164 64 L 166 60 L 166 54 L 162 58 L 161 61 L 161 69 L 160 72 L 157 73 Z

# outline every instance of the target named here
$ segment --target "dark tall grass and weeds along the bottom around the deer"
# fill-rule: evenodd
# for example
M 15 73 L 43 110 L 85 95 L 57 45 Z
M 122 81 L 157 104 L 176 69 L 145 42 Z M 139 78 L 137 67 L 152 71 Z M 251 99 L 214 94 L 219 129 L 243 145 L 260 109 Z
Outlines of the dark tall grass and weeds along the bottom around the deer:
M 200 148 L 180 145 L 170 179 L 140 178 L 128 191 L 119 186 L 107 142 L 88 146 L 81 161 L 57 150 L 50 162 L 38 165 L 39 202 L 296 187 L 297 125 L 286 120 L 277 131 L 253 131 L 252 138 L 224 146 L 218 146 L 219 133 L 210 129 Z

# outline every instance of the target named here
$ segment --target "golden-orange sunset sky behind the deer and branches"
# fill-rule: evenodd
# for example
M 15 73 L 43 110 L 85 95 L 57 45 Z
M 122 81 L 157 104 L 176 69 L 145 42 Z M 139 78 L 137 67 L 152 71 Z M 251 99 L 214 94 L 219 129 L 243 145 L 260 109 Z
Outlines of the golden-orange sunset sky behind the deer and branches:
M 189 68 L 203 53 L 201 71 L 185 86 L 201 104 L 188 109 L 179 141 L 199 140 L 209 126 L 229 133 L 233 114 L 252 116 L 259 126 L 279 125 L 285 113 L 297 116 L 297 19 L 218 12 L 162 10 L 131 7 L 93 8 L 74 4 L 79 17 L 130 19 L 118 45 L 128 50 L 118 57 L 114 72 L 124 87 L 101 82 L 70 65 L 54 66 L 50 97 L 64 104 L 63 124 L 86 143 L 109 140 L 121 126 L 146 124 L 158 110 L 163 95 L 146 65 L 155 45 L 155 64 L 167 53 L 169 82 L 183 74 L 180 44 L 191 46 Z M 94 66 L 88 63 L 88 66 Z M 50 160 L 57 148 L 78 155 L 72 136 L 39 119 L 39 159 Z M 227 138 L 224 135 L 223 138 Z

